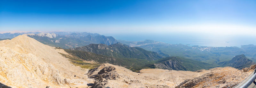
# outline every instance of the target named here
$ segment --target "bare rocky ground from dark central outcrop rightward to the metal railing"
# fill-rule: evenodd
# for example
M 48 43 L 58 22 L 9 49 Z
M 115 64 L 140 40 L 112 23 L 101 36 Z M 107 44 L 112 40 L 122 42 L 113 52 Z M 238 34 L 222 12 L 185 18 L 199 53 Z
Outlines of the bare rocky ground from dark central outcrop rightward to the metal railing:
M 247 71 L 251 71 L 251 68 L 238 70 L 225 67 L 195 72 L 142 69 L 140 73 L 135 73 L 124 67 L 103 64 L 89 70 L 88 76 L 95 79 L 93 88 L 220 88 L 227 84 L 235 86 L 246 77 L 240 76 L 248 74 Z

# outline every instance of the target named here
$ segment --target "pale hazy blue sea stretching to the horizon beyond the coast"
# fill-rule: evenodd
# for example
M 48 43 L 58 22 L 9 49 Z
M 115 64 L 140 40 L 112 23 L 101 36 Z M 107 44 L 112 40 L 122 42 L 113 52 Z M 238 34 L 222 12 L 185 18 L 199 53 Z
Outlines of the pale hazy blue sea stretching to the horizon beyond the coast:
M 248 44 L 256 44 L 255 36 L 218 36 L 204 34 L 189 34 L 189 33 L 173 33 L 173 34 L 103 34 L 113 36 L 117 40 L 126 41 L 143 41 L 146 39 L 160 41 L 169 44 L 188 44 L 199 46 L 214 46 L 226 47 Z

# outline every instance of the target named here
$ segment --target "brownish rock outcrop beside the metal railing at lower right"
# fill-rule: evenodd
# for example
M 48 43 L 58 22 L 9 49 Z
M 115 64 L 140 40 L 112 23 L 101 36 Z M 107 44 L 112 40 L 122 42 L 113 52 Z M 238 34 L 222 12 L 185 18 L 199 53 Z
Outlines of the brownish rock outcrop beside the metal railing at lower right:
M 252 70 L 251 68 L 249 68 L 249 70 L 245 69 L 238 70 L 232 67 L 212 68 L 209 69 L 210 72 L 202 76 L 185 80 L 184 82 L 180 83 L 177 88 L 221 88 L 225 86 L 233 87 L 252 73 L 250 72 Z

